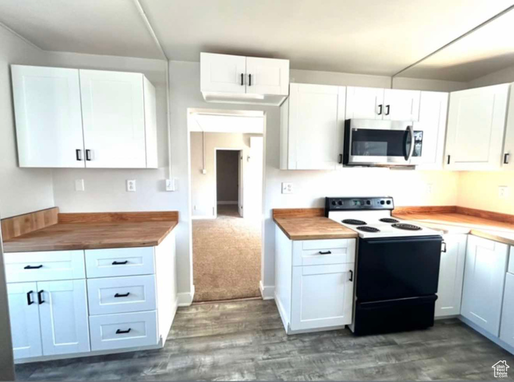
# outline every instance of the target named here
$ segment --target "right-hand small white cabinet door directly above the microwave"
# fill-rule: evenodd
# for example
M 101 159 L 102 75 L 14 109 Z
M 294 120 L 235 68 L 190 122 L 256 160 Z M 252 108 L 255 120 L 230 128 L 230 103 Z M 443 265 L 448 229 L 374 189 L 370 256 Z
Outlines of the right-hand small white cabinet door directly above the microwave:
M 419 120 L 419 90 L 386 89 L 384 92 L 384 118 L 391 121 Z

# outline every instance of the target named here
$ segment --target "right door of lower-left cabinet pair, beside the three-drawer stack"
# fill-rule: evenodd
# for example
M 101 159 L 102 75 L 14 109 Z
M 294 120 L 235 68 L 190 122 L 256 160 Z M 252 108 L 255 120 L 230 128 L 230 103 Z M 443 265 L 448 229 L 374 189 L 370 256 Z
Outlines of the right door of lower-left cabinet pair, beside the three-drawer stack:
M 89 351 L 85 280 L 40 281 L 43 354 Z

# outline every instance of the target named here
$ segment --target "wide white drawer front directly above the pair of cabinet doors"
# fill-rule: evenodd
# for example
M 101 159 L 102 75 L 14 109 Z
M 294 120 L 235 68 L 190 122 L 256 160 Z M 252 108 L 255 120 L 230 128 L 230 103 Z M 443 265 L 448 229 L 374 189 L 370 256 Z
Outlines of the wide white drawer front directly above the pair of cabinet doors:
M 82 250 L 6 253 L 4 259 L 7 282 L 85 278 Z

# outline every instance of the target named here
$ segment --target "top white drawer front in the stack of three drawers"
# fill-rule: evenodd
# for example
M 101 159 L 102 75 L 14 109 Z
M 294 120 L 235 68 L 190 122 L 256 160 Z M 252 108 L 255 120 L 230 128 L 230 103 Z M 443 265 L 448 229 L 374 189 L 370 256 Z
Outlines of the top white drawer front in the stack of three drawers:
M 150 275 L 155 272 L 154 247 L 86 250 L 88 278 Z

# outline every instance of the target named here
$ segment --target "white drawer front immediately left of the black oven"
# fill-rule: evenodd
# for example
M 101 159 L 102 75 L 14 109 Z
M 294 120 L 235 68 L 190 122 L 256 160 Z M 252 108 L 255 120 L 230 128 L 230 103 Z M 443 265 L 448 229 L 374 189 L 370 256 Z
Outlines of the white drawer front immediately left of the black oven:
M 293 266 L 355 262 L 355 239 L 293 242 Z

